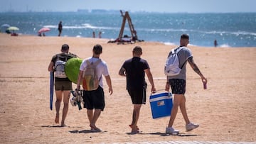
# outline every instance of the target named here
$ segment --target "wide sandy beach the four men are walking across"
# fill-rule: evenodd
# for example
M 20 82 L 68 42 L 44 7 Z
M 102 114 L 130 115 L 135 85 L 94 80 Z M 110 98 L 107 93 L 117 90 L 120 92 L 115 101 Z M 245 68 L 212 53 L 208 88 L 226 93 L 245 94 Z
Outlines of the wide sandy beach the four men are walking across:
M 200 127 L 186 132 L 178 111 L 174 127 L 181 134 L 166 135 L 169 117 L 152 118 L 148 89 L 138 123 L 141 133 L 130 135 L 133 106 L 125 89 L 126 81 L 118 75 L 119 68 L 124 60 L 132 57 L 132 49 L 140 45 L 142 58 L 151 67 L 156 89 L 164 89 L 164 62 L 176 45 L 153 42 L 117 45 L 107 41 L 31 35 L 14 37 L 0 33 L 0 143 L 256 141 L 256 48 L 189 46 L 194 61 L 208 78 L 208 89 L 203 89 L 200 77 L 187 65 L 188 117 Z M 64 43 L 70 46 L 70 52 L 82 59 L 92 55 L 93 45 L 103 47 L 101 58 L 109 67 L 113 94 L 108 94 L 104 79 L 106 106 L 97 121 L 102 133 L 91 133 L 86 109 L 79 111 L 71 104 L 65 121 L 67 126 L 59 127 L 54 123 L 55 106 L 53 111 L 49 109 L 48 64 Z

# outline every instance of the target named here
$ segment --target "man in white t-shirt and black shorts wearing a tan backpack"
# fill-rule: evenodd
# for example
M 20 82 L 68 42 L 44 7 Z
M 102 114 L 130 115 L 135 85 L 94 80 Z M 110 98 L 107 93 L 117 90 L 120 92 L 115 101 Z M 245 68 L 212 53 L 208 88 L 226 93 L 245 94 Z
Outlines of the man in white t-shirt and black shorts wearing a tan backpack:
M 92 132 L 101 131 L 100 128 L 97 128 L 96 121 L 100 117 L 101 111 L 103 111 L 105 108 L 105 95 L 103 90 L 102 75 L 105 76 L 110 95 L 113 93 L 110 74 L 107 69 L 107 63 L 100 59 L 101 54 L 102 46 L 95 45 L 92 50 L 92 57 L 88 57 L 87 59 L 82 60 L 82 64 L 80 65 L 80 72 L 78 75 L 77 89 L 80 89 L 80 83 L 82 82 L 82 79 L 85 79 L 83 78 L 83 73 L 87 69 L 87 65 L 93 65 L 97 63 L 95 72 L 99 83 L 98 87 L 96 90 L 83 90 L 83 100 L 85 102 L 84 107 L 87 109 L 87 116 L 90 121 L 90 128 Z

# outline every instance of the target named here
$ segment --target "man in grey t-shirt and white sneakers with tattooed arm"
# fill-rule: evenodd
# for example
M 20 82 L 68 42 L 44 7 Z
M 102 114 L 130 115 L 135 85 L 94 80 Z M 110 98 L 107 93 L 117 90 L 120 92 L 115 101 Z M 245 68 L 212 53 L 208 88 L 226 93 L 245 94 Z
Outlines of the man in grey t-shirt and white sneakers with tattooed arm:
M 166 79 L 166 91 L 169 91 L 171 86 L 171 91 L 174 94 L 174 105 L 171 109 L 169 125 L 166 128 L 166 133 L 169 134 L 178 134 L 179 132 L 173 128 L 174 119 L 176 118 L 176 114 L 178 112 L 178 107 L 180 107 L 182 116 L 186 122 L 186 131 L 192 131 L 199 126 L 198 124 L 191 123 L 186 112 L 186 97 L 184 95 L 186 92 L 186 61 L 188 61 L 192 69 L 201 77 L 201 80 L 204 84 L 207 83 L 207 79 L 203 76 L 203 74 L 198 69 L 198 66 L 193 61 L 191 50 L 186 47 L 188 45 L 188 39 L 188 35 L 181 35 L 180 46 L 176 48 L 180 49 L 178 51 L 178 60 L 179 67 L 181 67 L 181 72 L 174 76 L 167 76 Z

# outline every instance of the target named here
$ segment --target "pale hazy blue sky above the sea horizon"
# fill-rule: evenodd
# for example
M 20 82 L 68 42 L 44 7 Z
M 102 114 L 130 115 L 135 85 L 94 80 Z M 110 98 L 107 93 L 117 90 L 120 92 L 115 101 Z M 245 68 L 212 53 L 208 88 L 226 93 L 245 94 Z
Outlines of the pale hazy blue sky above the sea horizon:
M 255 0 L 0 0 L 0 11 L 113 9 L 157 12 L 256 12 Z

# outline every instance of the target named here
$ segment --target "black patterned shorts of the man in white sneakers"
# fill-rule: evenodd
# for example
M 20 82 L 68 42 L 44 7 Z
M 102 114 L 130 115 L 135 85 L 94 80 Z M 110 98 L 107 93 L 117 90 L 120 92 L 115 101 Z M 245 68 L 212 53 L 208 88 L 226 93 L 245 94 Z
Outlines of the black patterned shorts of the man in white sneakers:
M 184 79 L 169 79 L 172 94 L 185 94 L 186 80 Z

